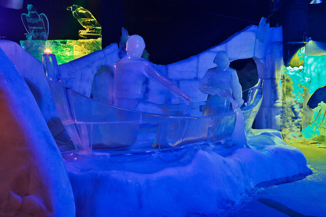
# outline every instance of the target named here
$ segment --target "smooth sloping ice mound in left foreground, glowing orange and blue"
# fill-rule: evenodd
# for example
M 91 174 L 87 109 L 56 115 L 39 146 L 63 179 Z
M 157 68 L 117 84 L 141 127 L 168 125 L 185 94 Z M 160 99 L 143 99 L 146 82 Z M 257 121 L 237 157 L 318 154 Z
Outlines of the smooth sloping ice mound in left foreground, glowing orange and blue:
M 65 164 L 37 103 L 2 49 L 0 62 L 0 215 L 75 216 Z

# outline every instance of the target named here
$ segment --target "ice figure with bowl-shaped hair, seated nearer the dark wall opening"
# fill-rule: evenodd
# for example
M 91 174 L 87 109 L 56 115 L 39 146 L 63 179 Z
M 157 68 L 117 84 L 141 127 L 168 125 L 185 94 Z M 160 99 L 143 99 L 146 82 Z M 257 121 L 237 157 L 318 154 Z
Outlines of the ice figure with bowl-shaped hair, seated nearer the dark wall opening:
M 244 102 L 237 73 L 229 67 L 230 62 L 227 52 L 218 52 L 213 62 L 216 67 L 208 69 L 198 85 L 198 89 L 202 93 L 210 94 L 203 116 L 228 112 L 230 102 L 233 109 L 239 108 Z

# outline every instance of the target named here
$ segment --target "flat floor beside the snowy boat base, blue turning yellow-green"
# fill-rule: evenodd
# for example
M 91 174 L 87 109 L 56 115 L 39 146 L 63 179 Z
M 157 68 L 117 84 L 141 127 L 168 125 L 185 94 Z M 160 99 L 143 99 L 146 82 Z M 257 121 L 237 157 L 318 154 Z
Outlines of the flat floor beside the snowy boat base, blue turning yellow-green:
M 260 188 L 250 202 L 222 216 L 326 216 L 325 145 L 314 141 L 289 144 L 304 153 L 313 174 L 300 181 Z

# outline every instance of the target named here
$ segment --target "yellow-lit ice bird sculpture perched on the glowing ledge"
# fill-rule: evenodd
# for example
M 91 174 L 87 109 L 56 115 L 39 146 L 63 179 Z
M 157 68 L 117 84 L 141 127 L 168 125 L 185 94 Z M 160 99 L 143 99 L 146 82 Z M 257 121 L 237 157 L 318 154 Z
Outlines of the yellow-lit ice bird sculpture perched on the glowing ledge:
M 82 27 L 85 28 L 85 30 L 79 30 L 79 39 L 97 39 L 101 37 L 101 25 L 91 12 L 79 5 L 67 7 L 67 10 L 70 10 Z

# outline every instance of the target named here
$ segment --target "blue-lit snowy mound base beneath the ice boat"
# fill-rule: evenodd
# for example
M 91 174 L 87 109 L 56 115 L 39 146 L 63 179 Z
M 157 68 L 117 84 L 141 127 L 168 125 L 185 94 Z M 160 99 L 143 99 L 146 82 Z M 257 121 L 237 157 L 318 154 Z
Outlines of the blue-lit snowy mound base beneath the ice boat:
M 94 160 L 63 153 L 77 216 L 212 216 L 241 204 L 256 187 L 311 174 L 303 153 L 277 131 L 248 136 L 255 149 L 183 146 Z M 79 162 L 79 163 L 78 163 Z

